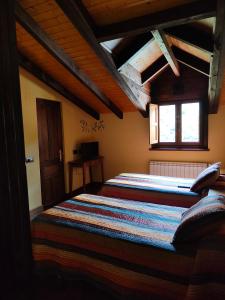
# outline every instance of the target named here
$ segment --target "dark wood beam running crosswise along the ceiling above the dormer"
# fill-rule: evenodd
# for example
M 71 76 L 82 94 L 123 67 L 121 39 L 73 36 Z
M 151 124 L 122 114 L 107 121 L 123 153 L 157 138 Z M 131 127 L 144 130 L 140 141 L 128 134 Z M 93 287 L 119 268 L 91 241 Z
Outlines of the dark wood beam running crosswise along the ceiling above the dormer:
M 96 29 L 99 42 L 130 35 L 138 35 L 155 29 L 164 29 L 186 24 L 195 20 L 215 16 L 216 5 L 212 0 L 200 0 L 173 7 L 157 13 L 133 18 Z

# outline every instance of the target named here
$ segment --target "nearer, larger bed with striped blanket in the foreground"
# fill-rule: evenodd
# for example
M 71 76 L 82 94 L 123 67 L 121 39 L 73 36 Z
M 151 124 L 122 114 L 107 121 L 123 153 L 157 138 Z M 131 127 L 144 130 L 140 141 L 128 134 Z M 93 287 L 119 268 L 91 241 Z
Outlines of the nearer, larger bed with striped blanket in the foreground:
M 185 210 L 79 195 L 32 222 L 35 270 L 70 280 L 84 276 L 128 299 L 208 299 L 209 285 L 212 295 L 225 296 L 224 240 L 218 248 L 215 241 L 171 244 Z

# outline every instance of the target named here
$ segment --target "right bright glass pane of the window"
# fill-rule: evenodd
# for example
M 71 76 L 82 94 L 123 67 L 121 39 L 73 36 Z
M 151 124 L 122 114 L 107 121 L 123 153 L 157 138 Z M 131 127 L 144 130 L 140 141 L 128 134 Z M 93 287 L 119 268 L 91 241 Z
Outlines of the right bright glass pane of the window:
M 182 142 L 199 142 L 199 103 L 182 104 Z

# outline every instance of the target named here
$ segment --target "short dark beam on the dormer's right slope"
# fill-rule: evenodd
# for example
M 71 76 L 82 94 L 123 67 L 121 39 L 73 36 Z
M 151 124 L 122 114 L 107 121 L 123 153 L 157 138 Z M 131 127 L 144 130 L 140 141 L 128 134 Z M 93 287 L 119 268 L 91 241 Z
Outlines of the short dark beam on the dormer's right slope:
M 175 46 L 172 47 L 172 50 L 179 62 L 209 77 L 209 63 Z

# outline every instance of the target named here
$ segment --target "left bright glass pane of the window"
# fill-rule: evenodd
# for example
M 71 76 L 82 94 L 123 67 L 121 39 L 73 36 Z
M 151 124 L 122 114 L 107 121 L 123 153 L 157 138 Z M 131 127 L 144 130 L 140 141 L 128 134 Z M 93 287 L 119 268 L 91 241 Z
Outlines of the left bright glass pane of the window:
M 159 107 L 159 130 L 160 142 L 175 142 L 175 105 L 162 105 Z

